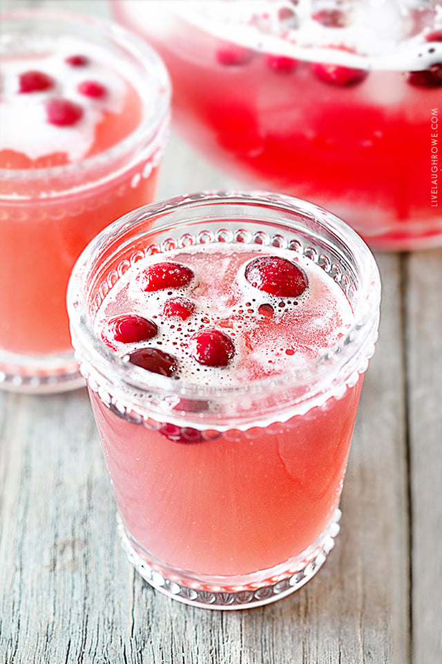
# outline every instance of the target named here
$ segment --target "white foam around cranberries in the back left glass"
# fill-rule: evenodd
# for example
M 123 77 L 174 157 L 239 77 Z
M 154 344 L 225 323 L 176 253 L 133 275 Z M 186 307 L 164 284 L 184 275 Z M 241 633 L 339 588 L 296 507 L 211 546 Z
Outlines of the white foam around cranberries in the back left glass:
M 64 62 L 68 55 L 86 55 L 88 66 L 73 67 Z M 121 113 L 127 93 L 117 64 L 103 49 L 78 39 L 62 38 L 57 52 L 1 59 L 3 91 L 0 99 L 0 150 L 21 152 L 34 160 L 55 152 L 66 153 L 70 162 L 80 160 L 93 147 L 95 127 L 104 113 Z M 55 80 L 55 87 L 43 92 L 18 93 L 19 75 L 37 70 Z M 101 83 L 106 95 L 99 100 L 81 95 L 77 86 L 85 80 Z M 84 114 L 70 127 L 50 124 L 44 104 L 52 97 L 62 97 L 80 104 Z

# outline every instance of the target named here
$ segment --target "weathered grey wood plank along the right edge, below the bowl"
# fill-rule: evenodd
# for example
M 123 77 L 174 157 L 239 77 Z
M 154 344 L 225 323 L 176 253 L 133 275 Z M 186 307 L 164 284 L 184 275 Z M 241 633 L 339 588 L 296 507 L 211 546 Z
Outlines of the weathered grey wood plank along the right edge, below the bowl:
M 407 261 L 407 357 L 416 664 L 442 661 L 442 250 Z

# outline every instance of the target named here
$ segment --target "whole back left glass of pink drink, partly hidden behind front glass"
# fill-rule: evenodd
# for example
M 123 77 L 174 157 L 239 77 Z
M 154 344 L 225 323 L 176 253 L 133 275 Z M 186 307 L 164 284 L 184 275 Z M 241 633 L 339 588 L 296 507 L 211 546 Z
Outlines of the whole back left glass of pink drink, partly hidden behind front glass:
M 0 385 L 82 382 L 66 288 L 87 243 L 153 200 L 169 77 L 108 21 L 41 11 L 1 19 Z

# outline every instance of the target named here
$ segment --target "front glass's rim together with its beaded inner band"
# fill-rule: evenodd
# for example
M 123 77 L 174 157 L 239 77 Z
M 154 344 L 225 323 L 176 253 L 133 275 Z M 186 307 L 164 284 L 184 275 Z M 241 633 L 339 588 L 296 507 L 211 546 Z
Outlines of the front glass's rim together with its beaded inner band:
M 358 266 L 365 272 L 365 278 L 363 279 L 363 284 L 361 286 L 361 291 L 363 291 L 365 297 L 358 298 L 357 301 L 352 296 L 352 284 L 349 277 L 343 275 L 342 271 L 337 269 L 339 266 L 330 261 L 325 255 L 325 252 L 318 252 L 313 246 L 310 246 L 311 243 L 309 243 L 309 246 L 307 247 L 302 247 L 302 243 L 300 242 L 295 243 L 293 246 L 294 251 L 301 252 L 303 255 L 310 257 L 310 259 L 316 259 L 316 262 L 318 262 L 323 269 L 326 271 L 328 270 L 332 275 L 332 278 L 335 279 L 341 288 L 343 287 L 342 284 L 344 285 L 344 288 L 347 289 L 350 297 L 352 297 L 354 301 L 355 313 L 354 324 L 343 340 L 340 340 L 335 347 L 329 349 L 323 354 L 323 356 L 307 363 L 307 367 L 306 369 L 303 369 L 302 375 L 293 375 L 290 373 L 280 374 L 278 376 L 262 378 L 247 384 L 226 387 L 195 385 L 191 382 L 180 382 L 180 385 L 177 385 L 178 381 L 167 376 L 151 373 L 146 376 L 146 371 L 144 371 L 144 369 L 131 365 L 128 362 L 124 362 L 122 358 L 119 358 L 119 356 L 111 351 L 111 349 L 108 349 L 103 340 L 95 334 L 93 323 L 90 321 L 95 315 L 93 312 L 97 311 L 97 307 L 101 304 L 102 299 L 106 297 L 108 291 L 113 285 L 115 285 L 119 277 L 130 267 L 130 261 L 120 261 L 119 271 L 109 271 L 106 279 L 99 285 L 98 289 L 94 289 L 99 291 L 98 299 L 93 303 L 86 302 L 86 300 L 88 300 L 88 295 L 85 296 L 84 289 L 86 287 L 88 270 L 93 266 L 94 260 L 99 257 L 100 251 L 104 249 L 109 242 L 115 240 L 119 234 L 124 232 L 124 230 L 130 230 L 137 222 L 141 220 L 145 221 L 149 218 L 155 219 L 155 217 L 161 217 L 162 215 L 165 215 L 167 220 L 169 212 L 179 210 L 180 208 L 184 208 L 186 212 L 189 211 L 189 214 L 186 217 L 186 222 L 192 223 L 191 211 L 194 208 L 198 208 L 198 204 L 201 202 L 209 205 L 213 203 L 229 203 L 231 205 L 248 203 L 251 205 L 258 205 L 261 208 L 265 208 L 266 206 L 273 206 L 274 208 L 276 206 L 286 212 L 292 211 L 294 214 L 303 214 L 304 216 L 309 216 L 312 220 L 318 220 L 323 224 L 325 222 L 329 230 L 332 230 L 332 232 L 338 237 L 345 238 L 345 241 L 349 243 L 352 246 L 353 251 L 356 252 Z M 204 208 L 201 208 L 200 212 L 203 210 Z M 220 216 L 222 216 L 222 214 Z M 258 219 L 256 222 L 258 223 Z M 169 227 L 170 223 L 171 222 L 169 221 L 167 227 Z M 180 225 L 185 225 L 185 221 L 180 222 Z M 223 226 L 224 225 L 225 221 Z M 151 230 L 157 234 L 162 230 L 162 225 L 154 224 Z M 149 233 L 151 230 L 149 230 Z M 225 228 L 220 228 L 220 232 L 225 232 L 225 230 Z M 183 234 L 181 237 L 184 238 L 184 241 L 189 240 L 189 234 Z M 270 236 L 267 237 L 271 239 Z M 216 234 L 214 238 L 216 239 Z M 206 234 L 200 234 L 195 236 L 195 239 L 205 243 L 208 236 Z M 253 236 L 251 236 L 251 239 L 253 239 Z M 258 241 L 262 243 L 262 234 L 258 234 L 255 239 L 258 239 Z M 276 236 L 273 237 L 273 241 L 280 241 L 279 234 L 276 234 Z M 169 239 L 166 239 L 166 243 L 169 243 Z M 151 247 L 153 248 L 151 251 L 157 252 L 157 249 L 161 250 L 161 247 L 152 243 Z M 167 250 L 166 246 L 164 246 L 163 250 Z M 137 262 L 144 258 L 146 251 L 149 251 L 148 248 L 144 252 L 134 252 L 132 256 L 133 262 Z M 358 363 L 355 367 L 352 367 L 352 371 L 349 371 L 347 382 L 345 383 L 348 387 L 354 385 L 357 382 L 359 374 L 363 374 L 367 369 L 368 360 L 374 353 L 374 343 L 376 342 L 378 331 L 380 296 L 381 282 L 372 253 L 358 234 L 349 228 L 343 221 L 337 219 L 333 214 L 322 208 L 318 208 L 318 206 L 312 203 L 307 203 L 283 194 L 271 194 L 260 191 L 208 191 L 190 194 L 189 196 L 176 196 L 173 199 L 146 205 L 143 208 L 139 208 L 134 212 L 126 214 L 122 219 L 114 222 L 102 233 L 97 235 L 79 257 L 71 275 L 68 286 L 68 313 L 70 316 L 73 345 L 76 349 L 77 360 L 81 365 L 81 372 L 86 379 L 91 379 L 91 382 L 93 382 L 93 389 L 96 388 L 96 391 L 99 391 L 100 387 L 103 387 L 103 377 L 109 373 L 109 367 L 112 367 L 113 372 L 121 372 L 119 378 L 126 384 L 126 386 L 130 386 L 132 389 L 156 389 L 159 391 L 165 391 L 166 394 L 170 394 L 171 392 L 177 394 L 178 392 L 179 394 L 195 398 L 223 398 L 224 396 L 226 398 L 231 398 L 231 396 L 235 394 L 265 394 L 269 388 L 283 388 L 287 386 L 287 378 L 300 380 L 302 377 L 302 380 L 305 380 L 305 378 L 312 373 L 318 374 L 318 367 L 325 367 L 325 369 L 327 369 L 327 367 L 341 367 L 343 366 L 343 363 L 348 362 L 349 359 L 356 356 Z M 92 307 L 92 310 L 90 310 L 90 307 Z M 363 349 L 363 353 L 358 353 L 358 350 L 360 349 Z M 339 359 L 339 364 L 336 361 L 336 358 Z M 343 380 L 343 378 L 340 378 L 340 382 L 343 382 Z

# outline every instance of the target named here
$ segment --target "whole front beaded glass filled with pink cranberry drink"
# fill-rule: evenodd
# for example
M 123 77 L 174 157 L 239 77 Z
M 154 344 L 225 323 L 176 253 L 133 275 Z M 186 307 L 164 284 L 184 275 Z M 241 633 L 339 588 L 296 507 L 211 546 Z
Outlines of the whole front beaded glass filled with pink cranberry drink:
M 298 589 L 339 530 L 380 284 L 343 222 L 276 194 L 148 205 L 68 288 L 128 557 L 192 605 Z

